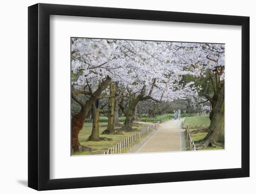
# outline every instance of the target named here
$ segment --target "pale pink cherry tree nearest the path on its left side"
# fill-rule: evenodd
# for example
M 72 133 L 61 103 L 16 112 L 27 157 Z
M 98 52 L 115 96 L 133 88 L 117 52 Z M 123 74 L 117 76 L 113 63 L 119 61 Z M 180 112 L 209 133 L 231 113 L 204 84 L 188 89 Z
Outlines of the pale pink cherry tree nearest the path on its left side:
M 153 100 L 155 102 L 172 101 L 182 98 L 189 93 L 190 84 L 181 87 L 183 74 L 191 74 L 183 71 L 180 64 L 172 64 L 171 42 L 157 41 L 128 41 L 121 45 L 121 53 L 131 63 L 135 71 L 132 72 L 133 80 L 126 86 L 122 96 L 121 110 L 126 116 L 124 128 L 132 130 L 133 120 L 137 104 L 142 100 Z M 190 92 L 193 90 L 190 90 Z

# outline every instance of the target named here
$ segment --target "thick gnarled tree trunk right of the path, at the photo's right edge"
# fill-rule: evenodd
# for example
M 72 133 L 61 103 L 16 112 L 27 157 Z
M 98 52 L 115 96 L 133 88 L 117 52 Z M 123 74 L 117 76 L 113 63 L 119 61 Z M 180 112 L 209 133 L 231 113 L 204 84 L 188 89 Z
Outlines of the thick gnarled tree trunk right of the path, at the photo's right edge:
M 208 134 L 201 142 L 204 146 L 212 146 L 216 142 L 224 143 L 224 87 L 214 95 L 213 100 Z

